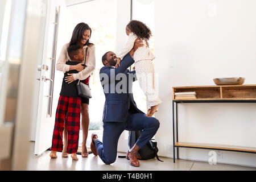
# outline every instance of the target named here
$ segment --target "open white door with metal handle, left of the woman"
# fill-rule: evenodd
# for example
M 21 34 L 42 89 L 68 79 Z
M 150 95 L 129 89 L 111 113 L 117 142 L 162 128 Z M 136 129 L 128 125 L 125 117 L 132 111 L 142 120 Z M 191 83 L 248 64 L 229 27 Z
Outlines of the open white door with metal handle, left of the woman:
M 38 117 L 36 123 L 35 154 L 40 155 L 51 147 L 55 123 L 55 112 L 52 113 L 53 84 L 55 77 L 57 33 L 59 27 L 60 6 L 47 0 L 47 18 L 44 35 L 42 64 L 38 65 L 41 73 L 38 98 Z

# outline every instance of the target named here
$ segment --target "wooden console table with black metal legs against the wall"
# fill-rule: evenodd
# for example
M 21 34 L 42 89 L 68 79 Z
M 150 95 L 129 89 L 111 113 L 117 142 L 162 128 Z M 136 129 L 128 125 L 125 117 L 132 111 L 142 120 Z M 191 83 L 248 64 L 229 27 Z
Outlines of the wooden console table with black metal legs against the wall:
M 175 93 L 196 92 L 196 99 L 176 100 Z M 229 146 L 221 144 L 189 143 L 178 140 L 178 103 L 198 103 L 198 102 L 254 102 L 256 103 L 256 85 L 221 85 L 221 86 L 181 86 L 172 88 L 172 127 L 174 142 L 174 163 L 175 147 L 177 148 L 177 159 L 179 159 L 179 147 L 202 148 L 209 150 L 224 150 L 235 152 L 247 152 L 256 154 L 255 147 Z M 175 107 L 176 104 L 176 107 Z M 175 112 L 176 110 L 176 112 Z M 176 118 L 176 141 L 175 141 L 175 118 Z

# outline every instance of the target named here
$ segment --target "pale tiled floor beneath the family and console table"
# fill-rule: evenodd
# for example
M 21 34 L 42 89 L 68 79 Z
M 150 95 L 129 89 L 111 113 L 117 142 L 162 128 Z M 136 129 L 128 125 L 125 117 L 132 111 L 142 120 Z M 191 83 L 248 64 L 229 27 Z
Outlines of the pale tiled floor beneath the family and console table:
M 40 156 L 34 155 L 35 143 L 30 144 L 30 156 L 28 159 L 29 171 L 54 171 L 54 170 L 68 170 L 68 171 L 189 171 L 189 170 L 200 170 L 200 171 L 210 171 L 210 170 L 254 170 L 253 167 L 243 167 L 234 166 L 229 164 L 216 164 L 210 165 L 206 162 L 195 162 L 191 160 L 177 160 L 176 163 L 173 162 L 171 158 L 160 158 L 164 162 L 159 162 L 156 159 L 150 160 L 140 160 L 141 167 L 132 167 L 129 161 L 125 158 L 117 158 L 115 163 L 106 165 L 104 164 L 98 156 L 90 154 L 88 158 L 82 158 L 78 155 L 79 161 L 73 161 L 71 157 L 61 158 L 61 152 L 57 152 L 57 159 L 51 159 L 49 157 L 49 152 L 46 151 Z M 119 155 L 125 155 L 119 153 Z

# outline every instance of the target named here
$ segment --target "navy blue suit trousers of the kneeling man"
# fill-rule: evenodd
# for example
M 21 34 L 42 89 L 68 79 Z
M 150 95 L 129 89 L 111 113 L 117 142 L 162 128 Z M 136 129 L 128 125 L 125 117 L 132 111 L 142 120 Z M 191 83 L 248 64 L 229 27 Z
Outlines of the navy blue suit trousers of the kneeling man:
M 156 134 L 159 121 L 154 117 L 146 117 L 146 114 L 129 112 L 126 122 L 103 122 L 103 128 L 103 143 L 97 139 L 95 145 L 101 160 L 105 164 L 112 164 L 117 158 L 118 139 L 124 130 L 142 130 L 136 142 L 142 148 Z

